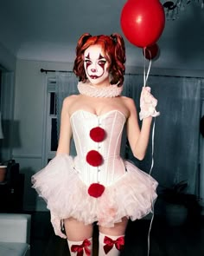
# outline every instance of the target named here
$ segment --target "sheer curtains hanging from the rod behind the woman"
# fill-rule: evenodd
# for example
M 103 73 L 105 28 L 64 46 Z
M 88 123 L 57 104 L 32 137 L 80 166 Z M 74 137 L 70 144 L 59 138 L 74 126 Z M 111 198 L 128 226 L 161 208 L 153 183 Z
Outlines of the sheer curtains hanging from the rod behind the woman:
M 72 73 L 57 74 L 57 115 L 60 121 L 63 98 L 78 94 L 77 79 Z M 195 193 L 198 186 L 199 122 L 201 118 L 201 79 L 150 75 L 147 84 L 158 100 L 155 119 L 154 167 L 152 176 L 159 184 L 170 186 L 188 181 L 188 192 Z M 139 97 L 143 87 L 143 75 L 125 75 L 123 95 L 134 99 L 139 112 Z M 58 122 L 58 128 L 59 128 Z M 141 121 L 139 121 L 141 125 Z M 124 136 L 125 138 L 125 136 Z M 124 139 L 125 140 L 125 139 Z M 137 161 L 131 154 L 127 141 L 122 151 L 126 159 L 133 161 L 149 173 L 152 162 L 152 133 L 147 154 Z M 75 154 L 73 142 L 71 154 Z

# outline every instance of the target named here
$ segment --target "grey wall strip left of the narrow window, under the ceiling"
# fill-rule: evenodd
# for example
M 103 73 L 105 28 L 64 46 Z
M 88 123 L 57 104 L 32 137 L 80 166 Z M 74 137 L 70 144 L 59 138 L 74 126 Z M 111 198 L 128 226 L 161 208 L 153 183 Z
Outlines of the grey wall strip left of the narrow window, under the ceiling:
M 70 69 L 68 63 L 17 60 L 15 97 L 15 140 L 13 158 L 25 174 L 24 208 L 45 209 L 36 200 L 30 177 L 42 167 L 42 130 L 45 98 L 45 73 L 40 69 Z

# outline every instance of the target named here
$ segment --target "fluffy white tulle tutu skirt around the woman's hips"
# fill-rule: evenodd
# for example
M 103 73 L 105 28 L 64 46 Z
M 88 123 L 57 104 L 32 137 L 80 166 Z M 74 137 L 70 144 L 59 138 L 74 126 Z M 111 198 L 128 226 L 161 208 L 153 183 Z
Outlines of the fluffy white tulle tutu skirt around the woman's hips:
M 99 198 L 90 196 L 88 187 L 74 170 L 73 157 L 60 154 L 48 166 L 32 176 L 33 187 L 60 220 L 73 217 L 91 224 L 111 227 L 125 216 L 131 220 L 152 212 L 157 181 L 129 161 L 125 174 L 105 187 Z

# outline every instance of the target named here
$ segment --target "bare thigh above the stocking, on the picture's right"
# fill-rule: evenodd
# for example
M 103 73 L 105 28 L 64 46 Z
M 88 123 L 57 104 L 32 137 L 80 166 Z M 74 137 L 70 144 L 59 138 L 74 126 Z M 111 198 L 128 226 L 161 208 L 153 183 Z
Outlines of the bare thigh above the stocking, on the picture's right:
M 128 224 L 128 219 L 124 217 L 122 222 L 118 222 L 113 227 L 99 226 L 99 232 L 113 236 L 123 235 Z

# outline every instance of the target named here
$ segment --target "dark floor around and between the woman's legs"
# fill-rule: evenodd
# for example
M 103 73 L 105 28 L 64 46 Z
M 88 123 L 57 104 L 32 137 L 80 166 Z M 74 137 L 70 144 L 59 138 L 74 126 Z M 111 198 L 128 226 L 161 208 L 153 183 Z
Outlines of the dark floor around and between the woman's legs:
M 125 248 L 121 256 L 147 256 L 150 220 L 129 223 Z M 98 256 L 98 228 L 94 226 L 93 256 Z M 67 241 L 54 235 L 49 213 L 33 213 L 31 226 L 31 256 L 68 256 Z M 150 256 L 203 256 L 204 220 L 188 221 L 183 226 L 169 225 L 155 216 L 150 231 Z

